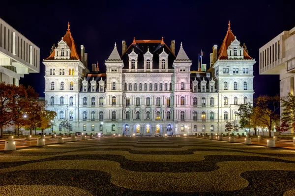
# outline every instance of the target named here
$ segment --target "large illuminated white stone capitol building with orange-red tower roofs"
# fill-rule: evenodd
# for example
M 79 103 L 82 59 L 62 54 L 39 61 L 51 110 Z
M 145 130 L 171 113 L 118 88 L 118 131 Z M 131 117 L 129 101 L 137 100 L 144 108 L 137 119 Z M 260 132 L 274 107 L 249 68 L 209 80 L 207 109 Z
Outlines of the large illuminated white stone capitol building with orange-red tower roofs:
M 210 68 L 191 71 L 192 62 L 180 44 L 162 40 L 122 41 L 105 61 L 87 68 L 84 46 L 76 46 L 69 25 L 66 34 L 43 63 L 45 99 L 57 112 L 53 130 L 67 119 L 71 131 L 132 135 L 223 133 L 237 119 L 238 104 L 253 100 L 251 58 L 230 24 Z M 244 130 L 236 130 L 244 132 Z

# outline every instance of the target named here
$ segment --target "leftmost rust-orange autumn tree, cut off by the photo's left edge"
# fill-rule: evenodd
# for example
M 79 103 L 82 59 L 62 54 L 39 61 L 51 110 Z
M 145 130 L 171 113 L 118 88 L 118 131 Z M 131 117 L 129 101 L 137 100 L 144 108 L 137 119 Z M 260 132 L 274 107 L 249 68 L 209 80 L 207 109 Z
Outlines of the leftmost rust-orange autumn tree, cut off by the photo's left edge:
M 12 125 L 15 88 L 14 85 L 0 83 L 0 138 L 3 138 L 3 126 Z

